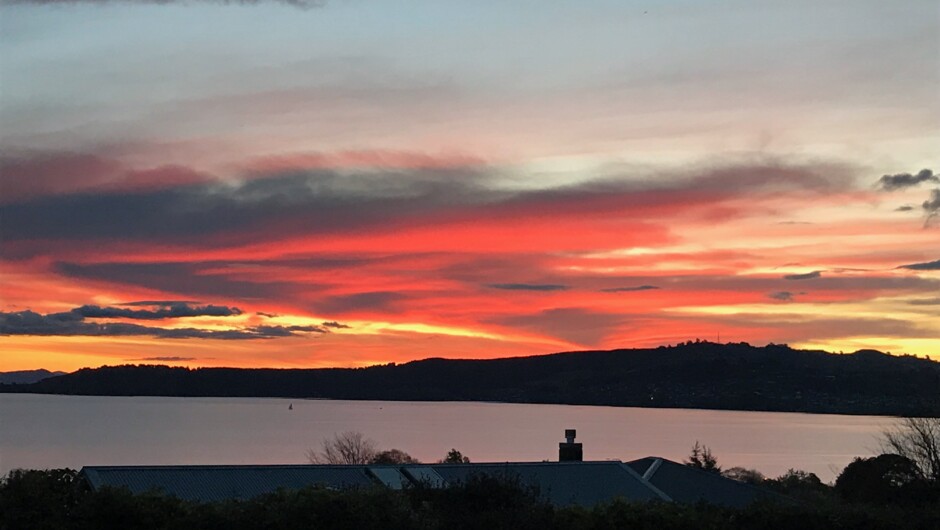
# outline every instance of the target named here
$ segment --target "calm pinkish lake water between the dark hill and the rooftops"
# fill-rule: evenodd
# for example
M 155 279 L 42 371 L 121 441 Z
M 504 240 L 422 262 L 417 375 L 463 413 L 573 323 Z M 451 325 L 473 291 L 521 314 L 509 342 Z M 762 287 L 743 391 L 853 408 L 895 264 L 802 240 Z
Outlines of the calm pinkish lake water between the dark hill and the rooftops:
M 293 404 L 293 410 L 288 405 Z M 129 464 L 304 463 L 333 433 L 357 430 L 424 461 L 452 447 L 473 461 L 558 456 L 565 428 L 586 460 L 682 460 L 696 440 L 724 467 L 824 481 L 869 456 L 894 420 L 687 409 L 502 403 L 0 394 L 0 473 L 12 468 Z

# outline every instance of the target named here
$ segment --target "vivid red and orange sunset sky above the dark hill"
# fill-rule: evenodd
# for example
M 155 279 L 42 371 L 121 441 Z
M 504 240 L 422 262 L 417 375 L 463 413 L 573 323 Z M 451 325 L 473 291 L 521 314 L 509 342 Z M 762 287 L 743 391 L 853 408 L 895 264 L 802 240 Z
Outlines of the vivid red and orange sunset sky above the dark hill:
M 0 0 L 0 370 L 940 360 L 940 3 Z

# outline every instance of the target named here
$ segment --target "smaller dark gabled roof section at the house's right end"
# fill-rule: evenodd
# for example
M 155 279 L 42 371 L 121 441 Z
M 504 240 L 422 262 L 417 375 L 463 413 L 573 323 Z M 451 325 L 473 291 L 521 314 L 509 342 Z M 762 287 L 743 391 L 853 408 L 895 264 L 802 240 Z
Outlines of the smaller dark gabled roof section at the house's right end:
M 747 506 L 758 500 L 790 502 L 772 491 L 665 458 L 648 456 L 626 465 L 676 502 L 704 501 L 731 507 Z

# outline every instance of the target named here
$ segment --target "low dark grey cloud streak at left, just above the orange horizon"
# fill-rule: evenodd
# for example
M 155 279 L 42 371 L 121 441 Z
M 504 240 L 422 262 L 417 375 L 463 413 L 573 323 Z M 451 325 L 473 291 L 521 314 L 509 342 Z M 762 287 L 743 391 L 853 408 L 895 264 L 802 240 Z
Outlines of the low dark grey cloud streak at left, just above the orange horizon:
M 0 335 L 135 337 L 165 339 L 270 339 L 299 333 L 327 333 L 320 326 L 255 326 L 232 330 L 198 328 L 165 329 L 123 322 L 87 322 L 80 313 L 68 311 L 42 315 L 34 311 L 0 312 Z

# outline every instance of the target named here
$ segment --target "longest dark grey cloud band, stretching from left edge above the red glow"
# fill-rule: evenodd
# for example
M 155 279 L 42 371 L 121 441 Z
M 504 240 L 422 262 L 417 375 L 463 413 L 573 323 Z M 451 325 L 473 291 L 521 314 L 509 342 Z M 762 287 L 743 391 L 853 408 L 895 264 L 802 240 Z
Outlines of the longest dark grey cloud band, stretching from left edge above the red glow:
M 55 171 L 67 172 L 60 166 Z M 272 234 L 279 238 L 355 234 L 375 227 L 427 226 L 438 219 L 653 211 L 673 209 L 677 203 L 704 207 L 740 195 L 780 190 L 826 193 L 846 185 L 837 169 L 772 164 L 647 181 L 611 175 L 534 191 L 498 189 L 494 185 L 498 176 L 483 166 L 359 173 L 281 170 L 236 183 L 207 177 L 160 189 L 108 193 L 66 189 L 52 195 L 24 195 L 0 204 L 5 227 L 2 252 L 28 258 L 54 252 L 53 244 L 84 249 L 93 242 L 122 240 L 220 248 L 268 242 Z M 685 194 L 688 200 L 683 200 Z

